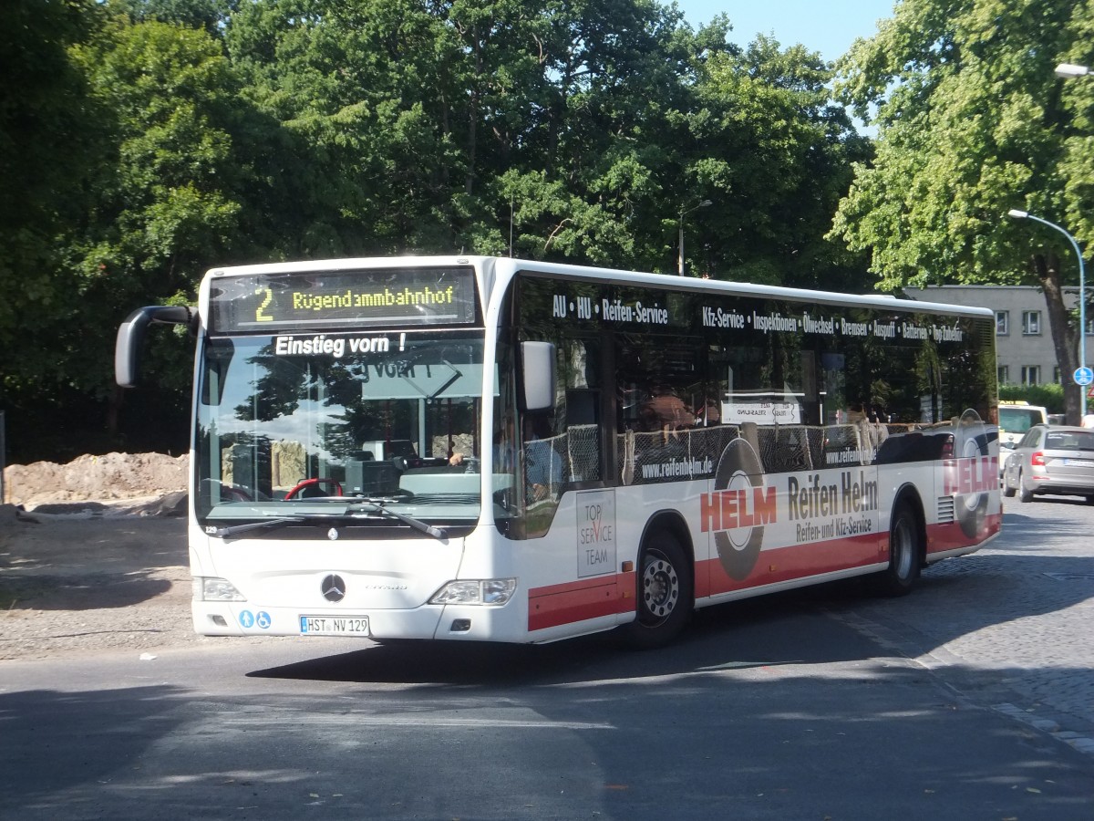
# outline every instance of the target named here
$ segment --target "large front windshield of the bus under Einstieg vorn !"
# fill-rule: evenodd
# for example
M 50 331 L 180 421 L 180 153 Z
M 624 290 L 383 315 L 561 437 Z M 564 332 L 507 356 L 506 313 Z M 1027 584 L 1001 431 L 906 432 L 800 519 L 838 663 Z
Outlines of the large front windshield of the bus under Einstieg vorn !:
M 478 519 L 481 332 L 210 337 L 200 380 L 199 521 L 348 499 Z

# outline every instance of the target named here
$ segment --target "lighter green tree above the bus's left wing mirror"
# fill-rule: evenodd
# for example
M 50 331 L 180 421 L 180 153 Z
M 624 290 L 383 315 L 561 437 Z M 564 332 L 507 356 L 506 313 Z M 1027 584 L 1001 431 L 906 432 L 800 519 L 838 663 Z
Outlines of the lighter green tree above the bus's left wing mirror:
M 102 338 L 118 311 L 191 300 L 203 269 L 230 257 L 242 185 L 229 131 L 233 80 L 214 39 L 175 24 L 116 16 L 73 54 L 110 148 L 72 247 L 77 321 L 97 316 Z M 85 337 L 69 351 L 93 385 L 109 363 L 104 342 Z

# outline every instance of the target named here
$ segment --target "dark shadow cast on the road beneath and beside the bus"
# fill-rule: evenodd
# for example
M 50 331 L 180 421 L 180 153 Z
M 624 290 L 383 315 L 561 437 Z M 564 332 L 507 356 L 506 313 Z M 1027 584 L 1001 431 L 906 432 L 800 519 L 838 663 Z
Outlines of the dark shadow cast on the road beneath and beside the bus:
M 838 643 L 802 640 L 814 627 L 823 632 L 816 624 L 821 620 L 856 613 L 916 625 L 903 634 L 905 655 L 915 657 L 962 635 L 1094 595 L 1094 558 L 994 554 L 943 564 L 950 568 L 929 569 L 919 588 L 903 599 L 878 599 L 866 592 L 865 583 L 851 580 L 707 608 L 674 645 L 652 652 L 626 648 L 614 633 L 535 646 L 409 641 L 369 645 L 249 675 L 507 687 L 818 666 L 885 655 L 876 641 L 853 632 Z

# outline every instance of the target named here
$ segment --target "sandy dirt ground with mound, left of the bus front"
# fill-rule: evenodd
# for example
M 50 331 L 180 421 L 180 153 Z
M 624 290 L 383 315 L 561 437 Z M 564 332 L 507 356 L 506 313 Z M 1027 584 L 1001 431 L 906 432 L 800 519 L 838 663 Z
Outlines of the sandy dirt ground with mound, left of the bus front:
M 194 644 L 186 456 L 81 456 L 4 471 L 0 660 Z

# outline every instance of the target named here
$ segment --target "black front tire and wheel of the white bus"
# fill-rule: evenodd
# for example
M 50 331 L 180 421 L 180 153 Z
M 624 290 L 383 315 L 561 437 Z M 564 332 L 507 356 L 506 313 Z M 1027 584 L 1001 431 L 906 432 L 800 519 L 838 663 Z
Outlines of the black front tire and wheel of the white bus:
M 637 613 L 627 625 L 636 649 L 663 647 L 684 628 L 695 605 L 691 562 L 667 530 L 650 533 L 638 559 Z

